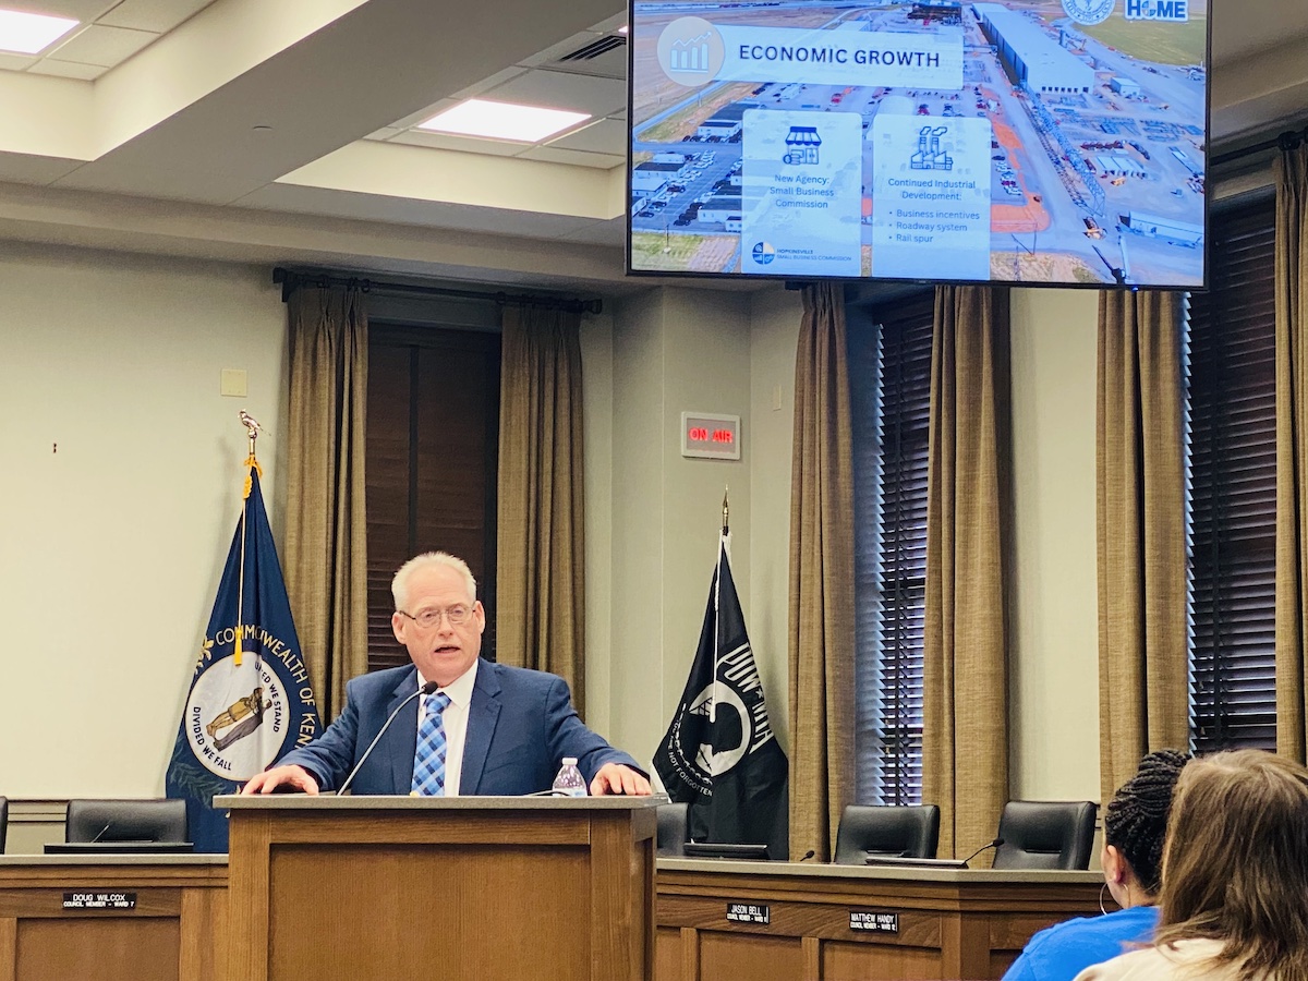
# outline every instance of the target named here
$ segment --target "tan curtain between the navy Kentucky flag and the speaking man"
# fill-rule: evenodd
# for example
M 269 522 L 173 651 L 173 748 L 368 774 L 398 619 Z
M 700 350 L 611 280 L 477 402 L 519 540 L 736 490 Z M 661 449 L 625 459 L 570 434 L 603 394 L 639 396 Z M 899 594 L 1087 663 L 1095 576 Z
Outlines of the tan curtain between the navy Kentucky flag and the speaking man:
M 368 309 L 360 289 L 301 286 L 286 311 L 286 591 L 326 723 L 368 670 Z

